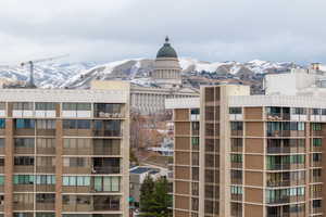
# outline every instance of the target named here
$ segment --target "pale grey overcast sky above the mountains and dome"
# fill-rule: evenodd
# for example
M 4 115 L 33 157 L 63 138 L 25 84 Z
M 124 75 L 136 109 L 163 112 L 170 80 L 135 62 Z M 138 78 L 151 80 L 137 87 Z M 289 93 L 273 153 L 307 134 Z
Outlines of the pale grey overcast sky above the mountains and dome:
M 0 64 L 154 58 L 326 63 L 325 0 L 0 0 Z

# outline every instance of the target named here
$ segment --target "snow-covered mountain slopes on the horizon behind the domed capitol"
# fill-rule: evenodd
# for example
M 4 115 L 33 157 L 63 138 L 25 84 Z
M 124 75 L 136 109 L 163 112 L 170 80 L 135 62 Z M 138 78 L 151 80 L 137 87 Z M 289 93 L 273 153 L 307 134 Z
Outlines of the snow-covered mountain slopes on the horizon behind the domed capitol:
M 131 59 L 106 64 L 93 62 L 83 63 L 49 63 L 35 65 L 35 84 L 40 88 L 87 88 L 93 79 L 130 79 L 142 86 L 150 85 L 149 73 L 153 69 L 153 60 Z M 241 77 L 278 73 L 293 67 L 292 63 L 273 63 L 268 61 L 240 62 L 203 62 L 190 58 L 181 58 L 180 66 L 184 75 L 189 73 L 209 73 L 218 76 Z M 26 81 L 29 77 L 28 67 L 1 67 L 0 78 L 10 81 Z

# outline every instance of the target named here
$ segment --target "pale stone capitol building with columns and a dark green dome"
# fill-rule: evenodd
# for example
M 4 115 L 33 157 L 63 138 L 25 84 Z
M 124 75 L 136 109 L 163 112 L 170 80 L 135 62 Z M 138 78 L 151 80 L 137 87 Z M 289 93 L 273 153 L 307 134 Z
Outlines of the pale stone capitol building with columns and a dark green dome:
M 183 82 L 181 67 L 177 52 L 171 46 L 168 37 L 158 51 L 151 79 L 156 87 L 130 86 L 130 106 L 133 112 L 154 114 L 165 111 L 165 99 L 193 98 L 199 92 Z

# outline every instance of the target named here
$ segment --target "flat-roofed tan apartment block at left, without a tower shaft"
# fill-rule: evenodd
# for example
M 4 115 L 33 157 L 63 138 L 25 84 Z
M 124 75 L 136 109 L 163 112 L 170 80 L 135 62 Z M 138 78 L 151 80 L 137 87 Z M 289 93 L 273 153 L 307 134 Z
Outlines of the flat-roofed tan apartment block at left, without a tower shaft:
M 128 89 L 0 89 L 0 216 L 127 216 L 128 102 Z

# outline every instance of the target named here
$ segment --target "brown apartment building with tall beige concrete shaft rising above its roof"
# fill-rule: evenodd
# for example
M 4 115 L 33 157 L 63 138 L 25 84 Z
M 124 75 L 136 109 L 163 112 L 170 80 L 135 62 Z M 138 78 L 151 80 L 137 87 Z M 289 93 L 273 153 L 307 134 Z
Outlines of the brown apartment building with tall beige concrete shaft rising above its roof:
M 175 217 L 324 216 L 324 99 L 225 85 L 166 107 L 175 124 Z

